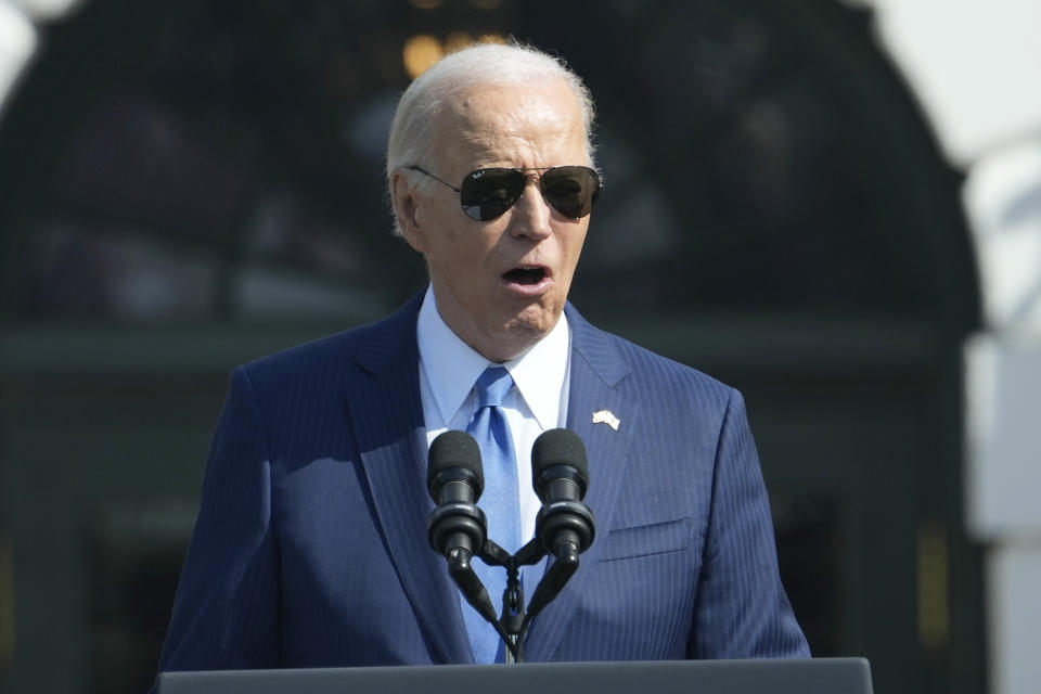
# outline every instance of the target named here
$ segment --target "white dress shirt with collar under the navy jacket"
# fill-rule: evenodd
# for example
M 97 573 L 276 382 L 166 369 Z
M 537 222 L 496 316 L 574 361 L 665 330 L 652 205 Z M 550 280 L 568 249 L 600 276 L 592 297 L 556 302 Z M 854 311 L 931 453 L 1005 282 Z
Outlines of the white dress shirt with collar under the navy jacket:
M 420 394 L 426 422 L 426 444 L 429 446 L 446 429 L 466 430 L 477 410 L 474 384 L 494 362 L 460 339 L 441 320 L 429 287 L 420 309 L 416 338 L 420 346 Z M 542 505 L 531 488 L 531 445 L 542 432 L 566 423 L 569 355 L 570 331 L 562 313 L 545 337 L 516 359 L 502 364 L 516 386 L 506 396 L 502 410 L 516 452 L 520 532 L 525 542 L 535 534 L 535 517 Z M 426 484 L 426 461 L 423 461 L 422 475 Z M 529 599 L 530 594 L 525 597 Z

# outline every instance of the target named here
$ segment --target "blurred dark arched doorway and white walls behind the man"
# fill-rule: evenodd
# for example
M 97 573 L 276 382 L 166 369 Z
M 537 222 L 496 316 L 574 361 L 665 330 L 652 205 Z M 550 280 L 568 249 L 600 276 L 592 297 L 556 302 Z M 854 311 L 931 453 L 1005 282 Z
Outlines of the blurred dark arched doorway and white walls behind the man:
M 423 286 L 398 94 L 515 36 L 600 111 L 571 298 L 736 387 L 814 655 L 1041 682 L 1030 0 L 0 0 L 0 687 L 152 682 L 231 368 Z

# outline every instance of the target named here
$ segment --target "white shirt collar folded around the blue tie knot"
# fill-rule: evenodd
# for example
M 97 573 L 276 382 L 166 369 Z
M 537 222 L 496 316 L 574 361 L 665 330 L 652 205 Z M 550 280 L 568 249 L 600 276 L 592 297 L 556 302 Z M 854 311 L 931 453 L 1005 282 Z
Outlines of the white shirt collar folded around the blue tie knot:
M 491 361 L 464 343 L 437 311 L 434 292 L 426 290 L 416 323 L 420 362 L 444 422 L 450 422 Z M 561 389 L 567 374 L 570 331 L 567 318 L 515 359 L 503 363 L 520 397 L 543 429 L 557 426 Z

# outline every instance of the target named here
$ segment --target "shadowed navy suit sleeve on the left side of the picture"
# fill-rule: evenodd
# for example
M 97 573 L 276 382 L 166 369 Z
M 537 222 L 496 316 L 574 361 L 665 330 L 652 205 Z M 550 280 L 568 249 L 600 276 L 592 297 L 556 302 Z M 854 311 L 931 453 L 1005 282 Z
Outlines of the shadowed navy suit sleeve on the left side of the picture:
M 232 372 L 159 671 L 279 665 L 271 460 L 247 372 Z

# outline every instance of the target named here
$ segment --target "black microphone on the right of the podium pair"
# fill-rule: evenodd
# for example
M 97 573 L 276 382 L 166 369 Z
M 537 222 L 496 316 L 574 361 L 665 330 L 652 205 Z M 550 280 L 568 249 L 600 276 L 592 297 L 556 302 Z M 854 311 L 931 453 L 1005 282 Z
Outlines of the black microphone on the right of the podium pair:
M 589 487 L 586 446 L 568 429 L 550 429 L 531 448 L 531 486 L 542 501 L 536 537 L 558 560 L 593 543 L 593 513 L 582 499 Z M 577 561 L 577 557 L 575 557 Z

